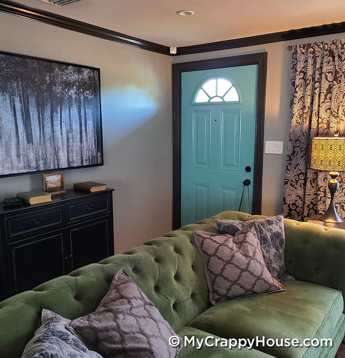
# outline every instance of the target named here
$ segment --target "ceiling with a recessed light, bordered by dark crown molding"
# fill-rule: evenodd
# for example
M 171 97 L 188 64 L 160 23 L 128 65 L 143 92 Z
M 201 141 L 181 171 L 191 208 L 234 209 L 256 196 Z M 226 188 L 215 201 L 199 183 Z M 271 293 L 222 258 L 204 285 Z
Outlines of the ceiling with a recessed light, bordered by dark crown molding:
M 84 0 L 43 10 L 166 46 L 188 46 L 345 21 L 344 0 Z M 193 10 L 180 16 L 179 10 Z

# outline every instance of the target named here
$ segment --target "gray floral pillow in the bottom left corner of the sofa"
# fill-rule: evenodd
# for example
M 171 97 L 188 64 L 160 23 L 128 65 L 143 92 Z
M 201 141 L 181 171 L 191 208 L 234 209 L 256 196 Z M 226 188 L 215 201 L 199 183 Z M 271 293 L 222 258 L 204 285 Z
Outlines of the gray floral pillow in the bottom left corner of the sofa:
M 43 309 L 42 325 L 24 349 L 22 358 L 102 358 L 85 347 L 66 324 L 70 320 Z

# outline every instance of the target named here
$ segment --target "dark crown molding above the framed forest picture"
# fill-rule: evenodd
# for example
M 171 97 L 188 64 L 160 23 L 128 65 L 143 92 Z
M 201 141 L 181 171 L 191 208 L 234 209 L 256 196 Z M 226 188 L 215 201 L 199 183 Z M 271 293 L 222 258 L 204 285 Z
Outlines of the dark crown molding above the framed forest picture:
M 118 42 L 124 45 L 138 47 L 144 50 L 170 55 L 170 48 L 120 32 L 104 29 L 99 26 L 67 18 L 49 11 L 33 8 L 32 6 L 15 3 L 10 0 L 0 0 L 0 11 L 19 16 L 24 19 L 39 21 L 44 24 L 58 26 L 63 29 L 80 32 L 82 34 L 99 37 L 101 39 Z

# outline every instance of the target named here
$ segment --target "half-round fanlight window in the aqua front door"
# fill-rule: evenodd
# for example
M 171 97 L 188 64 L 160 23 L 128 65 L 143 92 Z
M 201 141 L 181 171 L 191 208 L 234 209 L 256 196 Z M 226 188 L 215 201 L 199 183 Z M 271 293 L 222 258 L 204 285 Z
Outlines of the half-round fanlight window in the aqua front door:
M 236 88 L 225 78 L 209 79 L 199 88 L 194 97 L 194 103 L 239 101 Z

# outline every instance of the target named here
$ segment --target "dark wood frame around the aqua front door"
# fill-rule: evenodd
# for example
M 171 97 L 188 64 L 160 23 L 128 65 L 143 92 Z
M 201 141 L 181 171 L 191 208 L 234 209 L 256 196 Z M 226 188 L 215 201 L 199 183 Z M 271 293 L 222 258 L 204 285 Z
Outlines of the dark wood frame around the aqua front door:
M 264 120 L 266 98 L 267 52 L 212 58 L 172 64 L 172 229 L 181 226 L 181 74 L 235 66 L 258 65 L 253 214 L 261 214 L 264 157 Z

